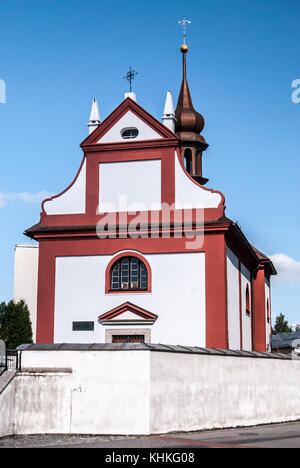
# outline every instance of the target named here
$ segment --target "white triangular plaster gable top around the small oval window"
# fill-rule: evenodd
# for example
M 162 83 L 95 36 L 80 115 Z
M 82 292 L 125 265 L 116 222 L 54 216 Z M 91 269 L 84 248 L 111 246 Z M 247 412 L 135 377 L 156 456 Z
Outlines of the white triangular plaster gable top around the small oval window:
M 138 136 L 134 138 L 134 140 L 124 140 L 121 136 L 121 132 L 125 128 L 137 128 L 139 131 Z M 159 138 L 161 138 L 159 133 L 155 132 L 149 125 L 129 110 L 102 138 L 100 138 L 98 143 L 157 140 Z

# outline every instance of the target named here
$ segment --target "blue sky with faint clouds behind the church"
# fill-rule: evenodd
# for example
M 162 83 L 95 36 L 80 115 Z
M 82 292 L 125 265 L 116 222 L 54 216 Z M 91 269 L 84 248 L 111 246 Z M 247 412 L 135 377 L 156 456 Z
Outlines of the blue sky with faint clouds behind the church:
M 204 175 L 250 242 L 276 255 L 273 317 L 300 322 L 298 0 L 15 0 L 0 17 L 0 300 L 13 295 L 14 245 L 81 162 L 91 102 L 120 104 L 130 66 L 138 102 L 161 118 L 176 102 L 186 15 L 188 80 L 206 120 Z

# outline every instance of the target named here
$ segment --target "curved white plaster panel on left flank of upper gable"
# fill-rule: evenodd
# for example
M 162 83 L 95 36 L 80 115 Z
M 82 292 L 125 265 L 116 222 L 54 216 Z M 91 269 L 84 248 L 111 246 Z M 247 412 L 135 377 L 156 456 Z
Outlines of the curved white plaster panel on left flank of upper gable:
M 62 195 L 44 203 L 47 215 L 84 214 L 86 200 L 86 161 L 73 185 Z

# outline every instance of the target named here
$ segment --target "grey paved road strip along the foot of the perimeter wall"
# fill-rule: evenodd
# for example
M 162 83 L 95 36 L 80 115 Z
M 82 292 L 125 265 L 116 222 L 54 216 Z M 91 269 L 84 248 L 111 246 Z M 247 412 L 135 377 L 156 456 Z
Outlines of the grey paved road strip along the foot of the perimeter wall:
M 1 448 L 300 448 L 300 422 L 149 437 L 18 436 Z

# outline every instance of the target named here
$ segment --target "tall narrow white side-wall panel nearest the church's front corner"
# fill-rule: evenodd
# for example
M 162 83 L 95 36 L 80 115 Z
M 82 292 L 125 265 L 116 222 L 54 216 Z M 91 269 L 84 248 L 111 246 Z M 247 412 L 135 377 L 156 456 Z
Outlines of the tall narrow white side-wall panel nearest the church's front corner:
M 227 288 L 229 349 L 240 349 L 239 260 L 230 249 L 227 249 Z

